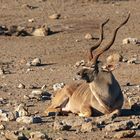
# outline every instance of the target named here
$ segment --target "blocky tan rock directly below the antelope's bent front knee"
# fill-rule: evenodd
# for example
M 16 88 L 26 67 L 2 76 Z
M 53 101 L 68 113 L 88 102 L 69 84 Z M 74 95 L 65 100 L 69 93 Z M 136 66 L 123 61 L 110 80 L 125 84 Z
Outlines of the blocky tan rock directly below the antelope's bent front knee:
M 81 126 L 81 132 L 91 132 L 93 129 L 93 124 L 92 122 L 84 123 Z

